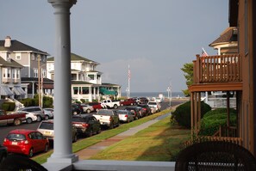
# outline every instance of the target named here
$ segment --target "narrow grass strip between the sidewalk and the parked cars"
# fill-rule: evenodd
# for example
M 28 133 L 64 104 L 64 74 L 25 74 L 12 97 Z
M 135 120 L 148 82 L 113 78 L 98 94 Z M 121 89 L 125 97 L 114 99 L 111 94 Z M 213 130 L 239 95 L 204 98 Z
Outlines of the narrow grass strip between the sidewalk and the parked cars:
M 97 134 L 92 137 L 86 137 L 84 139 L 78 140 L 78 142 L 72 144 L 72 152 L 76 153 L 79 150 L 83 150 L 87 147 L 90 147 L 93 144 L 97 144 L 104 139 L 107 139 L 109 137 L 114 137 L 117 134 L 122 133 L 123 131 L 127 131 L 128 129 L 135 127 L 137 125 L 141 125 L 149 120 L 156 119 L 157 117 L 164 115 L 165 113 L 171 113 L 171 109 L 165 109 L 159 113 L 154 113 L 152 115 L 149 115 L 147 117 L 144 117 L 142 119 L 134 120 L 133 122 L 120 125 L 119 127 L 116 127 L 115 129 L 111 129 L 108 131 L 103 131 L 100 134 Z M 47 153 L 43 153 L 39 156 L 34 156 L 32 160 L 35 162 L 38 162 L 40 164 L 47 162 L 47 158 L 49 158 L 53 154 L 53 150 L 49 150 Z

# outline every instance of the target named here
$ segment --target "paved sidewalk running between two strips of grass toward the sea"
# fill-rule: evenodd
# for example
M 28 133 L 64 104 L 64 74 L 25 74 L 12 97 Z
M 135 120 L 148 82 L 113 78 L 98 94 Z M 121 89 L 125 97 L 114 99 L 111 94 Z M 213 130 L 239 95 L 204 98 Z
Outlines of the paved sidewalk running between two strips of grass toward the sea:
M 130 128 L 128 131 L 123 131 L 122 133 L 114 136 L 114 137 L 110 137 L 108 139 L 103 140 L 100 143 L 91 145 L 90 147 L 84 149 L 84 150 L 79 150 L 76 155 L 79 156 L 79 160 L 85 160 L 85 159 L 89 159 L 91 156 L 96 155 L 98 152 L 100 152 L 101 150 L 106 149 L 107 147 L 109 147 L 112 144 L 116 144 L 119 141 L 122 141 L 122 139 L 126 138 L 126 137 L 130 137 L 133 136 L 135 133 L 137 133 L 138 131 L 141 131 L 145 128 L 147 128 L 149 125 L 153 125 L 154 123 L 158 122 L 160 119 L 164 119 L 167 116 L 170 116 L 171 113 L 166 113 L 163 116 L 159 116 L 156 119 L 147 121 L 144 124 L 135 126 L 133 128 Z

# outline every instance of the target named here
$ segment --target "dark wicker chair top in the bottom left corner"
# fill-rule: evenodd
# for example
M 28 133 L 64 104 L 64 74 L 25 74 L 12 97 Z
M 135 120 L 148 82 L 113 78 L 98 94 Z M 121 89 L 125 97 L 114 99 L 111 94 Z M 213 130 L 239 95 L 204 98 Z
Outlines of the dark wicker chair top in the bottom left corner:
M 34 162 L 27 156 L 20 155 L 9 155 L 0 164 L 1 171 L 47 171 L 46 168 L 42 167 L 41 164 Z

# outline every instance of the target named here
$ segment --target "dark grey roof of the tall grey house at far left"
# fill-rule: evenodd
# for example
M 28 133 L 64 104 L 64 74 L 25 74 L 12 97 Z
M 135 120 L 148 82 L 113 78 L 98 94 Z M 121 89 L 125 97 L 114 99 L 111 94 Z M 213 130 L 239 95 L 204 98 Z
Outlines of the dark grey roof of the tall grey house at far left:
M 0 40 L 0 51 L 25 51 L 25 52 L 38 52 L 49 55 L 47 52 L 43 52 L 39 49 L 36 49 L 32 46 L 28 46 L 18 40 L 11 40 L 11 46 L 10 47 L 4 47 L 5 40 Z

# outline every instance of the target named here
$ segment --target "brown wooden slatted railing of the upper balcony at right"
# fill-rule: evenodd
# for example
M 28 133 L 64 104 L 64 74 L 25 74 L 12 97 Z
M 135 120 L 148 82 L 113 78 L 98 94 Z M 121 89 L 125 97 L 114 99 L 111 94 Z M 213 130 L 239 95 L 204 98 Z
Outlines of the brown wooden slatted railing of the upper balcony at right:
M 200 57 L 194 63 L 194 82 L 241 82 L 242 65 L 239 54 Z

